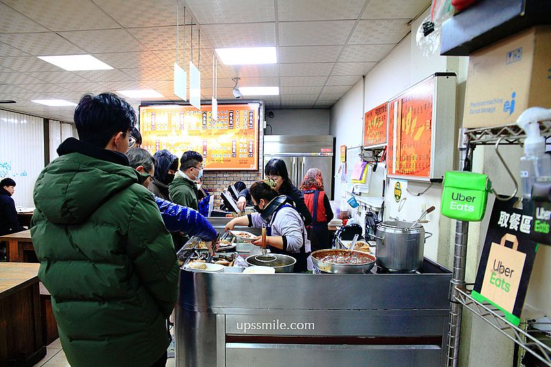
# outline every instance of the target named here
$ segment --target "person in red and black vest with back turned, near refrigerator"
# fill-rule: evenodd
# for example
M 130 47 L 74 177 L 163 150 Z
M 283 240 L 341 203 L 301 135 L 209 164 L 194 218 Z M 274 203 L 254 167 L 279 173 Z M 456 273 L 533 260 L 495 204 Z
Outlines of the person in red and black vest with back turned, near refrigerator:
M 327 223 L 333 219 L 333 210 L 323 188 L 322 171 L 318 168 L 306 171 L 300 190 L 304 196 L 304 204 L 312 213 L 312 224 L 306 227 L 306 231 L 310 233 L 312 251 L 331 249 Z

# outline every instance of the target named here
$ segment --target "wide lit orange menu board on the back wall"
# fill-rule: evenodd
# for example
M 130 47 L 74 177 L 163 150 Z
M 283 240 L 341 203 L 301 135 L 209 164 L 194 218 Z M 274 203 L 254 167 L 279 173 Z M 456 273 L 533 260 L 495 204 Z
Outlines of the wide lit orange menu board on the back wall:
M 181 157 L 193 150 L 207 170 L 258 169 L 258 104 L 218 105 L 212 120 L 210 105 L 140 106 L 143 149 L 154 154 L 167 149 Z

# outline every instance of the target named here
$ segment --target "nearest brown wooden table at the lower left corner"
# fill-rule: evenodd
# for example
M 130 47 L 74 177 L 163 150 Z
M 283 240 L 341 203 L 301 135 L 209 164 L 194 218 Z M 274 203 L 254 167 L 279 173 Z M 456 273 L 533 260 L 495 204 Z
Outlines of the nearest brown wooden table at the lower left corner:
M 0 262 L 0 366 L 32 366 L 46 355 L 39 266 Z

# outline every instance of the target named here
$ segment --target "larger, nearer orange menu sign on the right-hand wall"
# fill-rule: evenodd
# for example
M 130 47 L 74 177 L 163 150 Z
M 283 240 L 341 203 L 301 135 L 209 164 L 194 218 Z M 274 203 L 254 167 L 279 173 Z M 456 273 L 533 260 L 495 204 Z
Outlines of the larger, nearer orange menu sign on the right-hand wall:
M 433 84 L 430 78 L 388 103 L 390 175 L 430 177 Z

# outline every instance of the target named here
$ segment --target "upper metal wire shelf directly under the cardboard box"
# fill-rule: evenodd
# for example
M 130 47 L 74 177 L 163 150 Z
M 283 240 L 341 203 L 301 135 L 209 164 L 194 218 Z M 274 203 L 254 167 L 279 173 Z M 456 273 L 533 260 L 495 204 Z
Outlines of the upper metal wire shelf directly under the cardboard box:
M 539 128 L 542 136 L 551 136 L 551 121 L 540 121 Z M 503 138 L 503 144 L 519 144 L 526 138 L 524 130 L 517 125 L 466 129 L 464 132 L 469 143 L 476 145 L 493 144 L 499 138 Z

